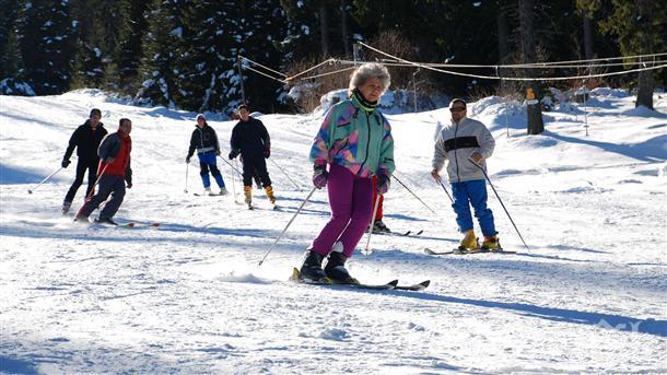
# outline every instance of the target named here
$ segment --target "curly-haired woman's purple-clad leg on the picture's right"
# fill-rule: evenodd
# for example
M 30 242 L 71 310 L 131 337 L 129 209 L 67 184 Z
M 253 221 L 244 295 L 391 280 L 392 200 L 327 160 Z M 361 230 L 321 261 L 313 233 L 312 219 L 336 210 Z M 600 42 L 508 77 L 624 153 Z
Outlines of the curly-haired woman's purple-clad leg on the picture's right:
M 343 255 L 350 258 L 373 215 L 373 183 L 371 178 L 355 177 L 352 191 L 350 224 L 340 236 Z

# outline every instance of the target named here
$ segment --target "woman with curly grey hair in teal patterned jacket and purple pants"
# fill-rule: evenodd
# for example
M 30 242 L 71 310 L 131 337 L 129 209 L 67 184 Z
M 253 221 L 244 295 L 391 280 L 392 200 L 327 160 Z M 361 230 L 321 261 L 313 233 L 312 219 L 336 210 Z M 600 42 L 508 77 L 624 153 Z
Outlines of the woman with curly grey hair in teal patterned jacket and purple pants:
M 327 186 L 331 219 L 307 248 L 301 279 L 356 283 L 344 265 L 373 214 L 372 177 L 377 176 L 377 192 L 385 194 L 395 168 L 391 127 L 377 108 L 389 83 L 389 72 L 381 63 L 356 68 L 350 98 L 329 109 L 315 137 L 313 184 Z

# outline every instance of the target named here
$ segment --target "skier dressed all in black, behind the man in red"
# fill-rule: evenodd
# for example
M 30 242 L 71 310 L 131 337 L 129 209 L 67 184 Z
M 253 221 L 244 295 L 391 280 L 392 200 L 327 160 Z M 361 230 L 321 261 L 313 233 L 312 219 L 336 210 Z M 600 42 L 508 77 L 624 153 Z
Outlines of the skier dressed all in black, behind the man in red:
M 91 109 L 89 119 L 85 120 L 83 125 L 79 126 L 72 133 L 72 137 L 70 137 L 69 145 L 67 147 L 60 165 L 63 168 L 67 168 L 70 165 L 70 157 L 74 152 L 74 148 L 77 148 L 79 161 L 77 162 L 77 177 L 62 201 L 62 214 L 70 211 L 77 190 L 79 190 L 79 187 L 83 184 L 83 176 L 85 175 L 86 169 L 87 188 L 85 189 L 85 196 L 90 196 L 95 188 L 95 181 L 97 180 L 97 164 L 100 163 L 97 148 L 107 133 L 104 124 L 100 121 L 101 118 L 102 112 L 100 109 Z

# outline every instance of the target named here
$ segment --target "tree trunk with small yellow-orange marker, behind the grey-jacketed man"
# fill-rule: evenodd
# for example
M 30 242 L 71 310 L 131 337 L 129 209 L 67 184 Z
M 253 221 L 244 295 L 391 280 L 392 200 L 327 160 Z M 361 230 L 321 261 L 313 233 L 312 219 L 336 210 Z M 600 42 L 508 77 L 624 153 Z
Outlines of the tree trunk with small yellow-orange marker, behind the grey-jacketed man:
M 518 14 L 522 30 L 522 49 L 524 63 L 536 62 L 535 52 L 535 26 L 534 26 L 534 0 L 519 0 Z M 526 77 L 534 77 L 534 69 L 526 69 Z M 537 81 L 526 81 L 526 104 L 528 112 L 528 134 L 539 134 L 545 131 L 542 110 L 540 107 L 540 85 Z

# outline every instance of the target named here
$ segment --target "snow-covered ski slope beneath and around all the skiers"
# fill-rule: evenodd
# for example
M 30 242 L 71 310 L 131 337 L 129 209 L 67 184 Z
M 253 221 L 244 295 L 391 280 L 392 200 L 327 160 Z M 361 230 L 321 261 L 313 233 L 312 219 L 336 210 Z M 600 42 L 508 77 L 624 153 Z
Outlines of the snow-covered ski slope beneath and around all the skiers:
M 257 267 L 311 189 L 319 118 L 259 117 L 283 210 L 268 210 L 257 191 L 264 209 L 248 211 L 231 195 L 195 197 L 195 163 L 184 192 L 192 113 L 91 91 L 1 96 L 0 372 L 665 373 L 667 99 L 656 95 L 656 113 L 634 109 L 620 91 L 596 93 L 586 112 L 545 114 L 547 131 L 534 137 L 516 104 L 490 97 L 470 107 L 498 141 L 490 175 L 528 249 L 491 191 L 490 204 L 501 243 L 517 255 L 423 254 L 460 236 L 428 177 L 435 120 L 447 112 L 389 116 L 397 176 L 437 214 L 394 181 L 387 225 L 424 233 L 373 236 L 374 253 L 358 254 L 350 269 L 366 282 L 431 279 L 423 292 L 286 281 L 328 219 L 325 191 Z M 134 187 L 116 219 L 160 227 L 82 227 L 61 216 L 74 164 L 27 194 L 59 167 L 94 106 L 110 131 L 120 117 L 133 121 Z M 209 122 L 229 151 L 233 122 Z M 74 209 L 82 197 L 83 187 Z

